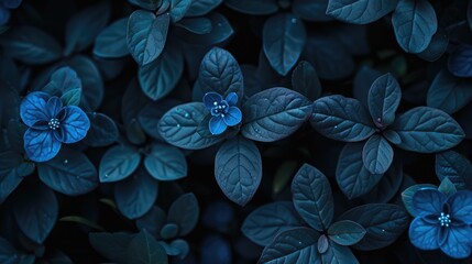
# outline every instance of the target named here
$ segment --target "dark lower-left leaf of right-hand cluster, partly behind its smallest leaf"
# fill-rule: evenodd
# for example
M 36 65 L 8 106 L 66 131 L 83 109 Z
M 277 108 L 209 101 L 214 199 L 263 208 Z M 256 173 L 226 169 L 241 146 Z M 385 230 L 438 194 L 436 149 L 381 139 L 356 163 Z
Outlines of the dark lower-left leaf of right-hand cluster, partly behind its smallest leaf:
M 382 174 L 371 174 L 364 166 L 363 145 L 363 143 L 345 144 L 336 168 L 336 180 L 349 199 L 367 194 L 383 176 Z

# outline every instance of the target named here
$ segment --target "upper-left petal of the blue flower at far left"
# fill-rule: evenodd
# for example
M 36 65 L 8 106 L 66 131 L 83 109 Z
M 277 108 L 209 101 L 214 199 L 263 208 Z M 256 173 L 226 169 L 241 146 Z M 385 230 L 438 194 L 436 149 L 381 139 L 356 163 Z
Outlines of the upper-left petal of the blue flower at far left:
M 29 94 L 20 105 L 20 117 L 28 127 L 33 127 L 37 121 L 50 121 L 46 105 L 50 95 L 42 91 Z

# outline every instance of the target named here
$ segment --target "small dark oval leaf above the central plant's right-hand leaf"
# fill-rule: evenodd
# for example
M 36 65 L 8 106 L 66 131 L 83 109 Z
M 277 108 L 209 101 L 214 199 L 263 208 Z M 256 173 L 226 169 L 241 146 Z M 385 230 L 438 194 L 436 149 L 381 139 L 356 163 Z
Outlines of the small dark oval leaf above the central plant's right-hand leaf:
M 295 91 L 300 92 L 310 100 L 316 100 L 321 96 L 321 84 L 318 74 L 308 62 L 298 63 L 292 73 L 292 86 Z

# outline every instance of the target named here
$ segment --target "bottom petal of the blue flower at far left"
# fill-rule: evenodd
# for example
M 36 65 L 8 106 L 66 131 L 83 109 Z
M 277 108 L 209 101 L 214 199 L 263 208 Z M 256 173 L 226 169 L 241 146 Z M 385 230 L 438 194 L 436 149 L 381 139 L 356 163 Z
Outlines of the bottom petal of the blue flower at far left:
M 28 129 L 24 133 L 24 150 L 31 161 L 47 162 L 57 155 L 61 142 L 52 130 Z

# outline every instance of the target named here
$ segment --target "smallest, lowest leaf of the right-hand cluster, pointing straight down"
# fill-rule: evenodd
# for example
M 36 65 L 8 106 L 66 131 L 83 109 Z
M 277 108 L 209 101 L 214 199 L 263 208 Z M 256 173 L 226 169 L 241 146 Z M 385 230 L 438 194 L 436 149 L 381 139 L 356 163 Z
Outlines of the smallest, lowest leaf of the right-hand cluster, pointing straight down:
M 372 135 L 362 151 L 364 166 L 372 174 L 384 174 L 392 165 L 394 151 L 385 138 Z

